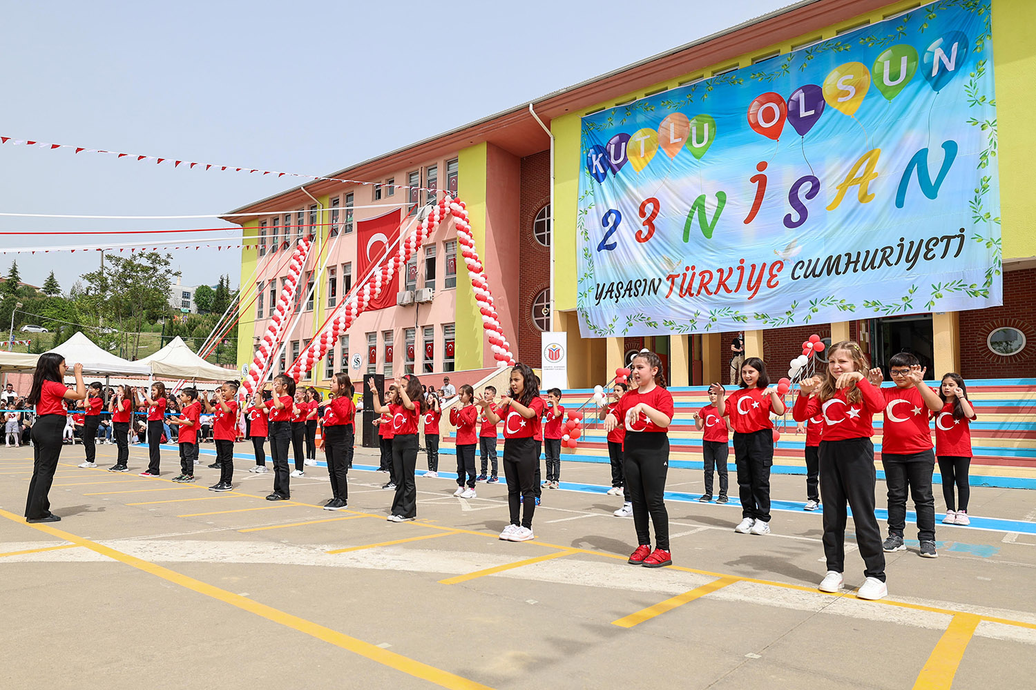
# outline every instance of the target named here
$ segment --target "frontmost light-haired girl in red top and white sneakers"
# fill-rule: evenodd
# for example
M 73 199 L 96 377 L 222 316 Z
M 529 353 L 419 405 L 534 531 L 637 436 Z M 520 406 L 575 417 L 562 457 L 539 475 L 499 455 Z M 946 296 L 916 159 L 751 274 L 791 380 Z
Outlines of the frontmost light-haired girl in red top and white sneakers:
M 863 557 L 866 580 L 860 599 L 882 599 L 885 586 L 885 551 L 874 517 L 873 416 L 885 408 L 885 398 L 866 379 L 867 360 L 860 346 L 843 340 L 831 346 L 828 369 L 799 384 L 793 408 L 795 421 L 819 415 L 821 496 L 824 498 L 824 556 L 828 572 L 821 592 L 839 592 L 845 570 L 845 505 L 853 509 L 856 543 Z

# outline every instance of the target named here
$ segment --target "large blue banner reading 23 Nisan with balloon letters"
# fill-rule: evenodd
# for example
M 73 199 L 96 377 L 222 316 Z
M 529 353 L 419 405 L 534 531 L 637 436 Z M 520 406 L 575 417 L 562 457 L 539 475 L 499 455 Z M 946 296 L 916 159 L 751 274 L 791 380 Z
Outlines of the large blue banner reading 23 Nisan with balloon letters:
M 1003 303 L 989 0 L 582 119 L 583 336 Z

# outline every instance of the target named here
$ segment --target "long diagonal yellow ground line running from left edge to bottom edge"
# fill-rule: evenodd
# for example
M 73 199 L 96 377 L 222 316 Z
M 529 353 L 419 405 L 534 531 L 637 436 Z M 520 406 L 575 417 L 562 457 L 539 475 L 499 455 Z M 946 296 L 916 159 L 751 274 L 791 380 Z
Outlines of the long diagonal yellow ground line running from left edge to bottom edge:
M 9 513 L 6 510 L 0 510 L 0 516 L 6 517 L 16 522 L 21 522 L 23 518 Z M 370 642 L 365 642 L 362 639 L 356 639 L 355 637 L 350 637 L 344 633 L 338 632 L 337 630 L 332 630 L 330 628 L 325 628 L 322 625 L 313 623 L 312 621 L 307 621 L 306 619 L 299 618 L 297 616 L 292 616 L 280 609 L 274 608 L 272 606 L 267 606 L 261 604 L 257 601 L 249 599 L 248 597 L 242 597 L 226 590 L 221 590 L 218 587 L 213 587 L 207 582 L 202 582 L 193 577 L 189 577 L 181 573 L 178 573 L 169 568 L 164 568 L 160 565 L 155 565 L 149 561 L 144 561 L 136 557 L 130 556 L 128 553 L 123 553 L 122 551 L 117 551 L 109 546 L 104 546 L 95 541 L 90 541 L 89 539 L 84 539 L 77 535 L 57 530 L 45 523 L 28 524 L 28 527 L 35 528 L 40 532 L 49 534 L 58 539 L 64 539 L 65 541 L 70 541 L 77 546 L 83 546 L 91 551 L 100 553 L 102 556 L 114 559 L 120 563 L 123 563 L 132 568 L 137 568 L 143 572 L 146 572 L 156 577 L 161 577 L 174 584 L 179 584 L 188 590 L 197 592 L 206 597 L 210 597 L 218 601 L 230 604 L 231 606 L 236 606 L 241 610 L 249 611 L 250 613 L 255 613 L 260 616 L 267 621 L 277 623 L 278 625 L 283 625 L 285 627 L 297 630 L 304 634 L 310 635 L 317 639 L 321 639 L 329 644 L 335 644 L 347 652 L 352 652 L 366 659 L 370 659 L 375 663 L 379 663 L 388 668 L 401 671 L 413 678 L 419 678 L 423 681 L 428 681 L 429 683 L 434 683 L 449 690 L 492 690 L 489 686 L 477 683 L 466 678 L 462 678 L 450 671 L 442 670 L 441 668 L 436 668 L 426 663 L 422 663 L 409 657 L 404 657 L 401 654 L 396 654 L 395 652 L 390 652 L 388 650 L 383 650 L 380 647 L 371 644 Z

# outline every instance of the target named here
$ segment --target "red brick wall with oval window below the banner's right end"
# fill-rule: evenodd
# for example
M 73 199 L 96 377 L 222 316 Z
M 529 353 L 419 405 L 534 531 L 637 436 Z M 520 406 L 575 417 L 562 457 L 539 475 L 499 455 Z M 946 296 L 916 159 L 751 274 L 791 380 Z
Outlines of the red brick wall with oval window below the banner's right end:
M 1005 326 L 1026 334 L 1017 355 L 995 355 L 986 347 L 989 333 Z M 1004 272 L 1004 306 L 960 312 L 960 362 L 965 379 L 1036 377 L 1036 269 Z

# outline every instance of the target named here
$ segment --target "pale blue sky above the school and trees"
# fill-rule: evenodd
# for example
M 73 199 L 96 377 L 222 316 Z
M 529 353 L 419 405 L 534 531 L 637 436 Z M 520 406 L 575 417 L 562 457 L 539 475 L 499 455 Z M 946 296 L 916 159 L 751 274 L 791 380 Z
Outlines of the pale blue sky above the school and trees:
M 482 2 L 12 3 L 0 134 L 322 175 L 784 4 L 728 0 L 686 21 L 644 10 L 634 40 L 640 10 L 613 0 L 533 1 L 517 13 Z M 223 212 L 292 184 L 9 144 L 0 179 L 2 211 L 103 215 Z M 0 217 L 5 232 L 222 224 Z M 30 241 L 71 243 L 0 243 Z M 67 290 L 98 257 L 4 254 L 0 273 L 11 260 L 23 280 L 54 270 Z M 214 282 L 228 264 L 239 278 L 234 253 L 174 252 L 174 264 L 185 283 Z

